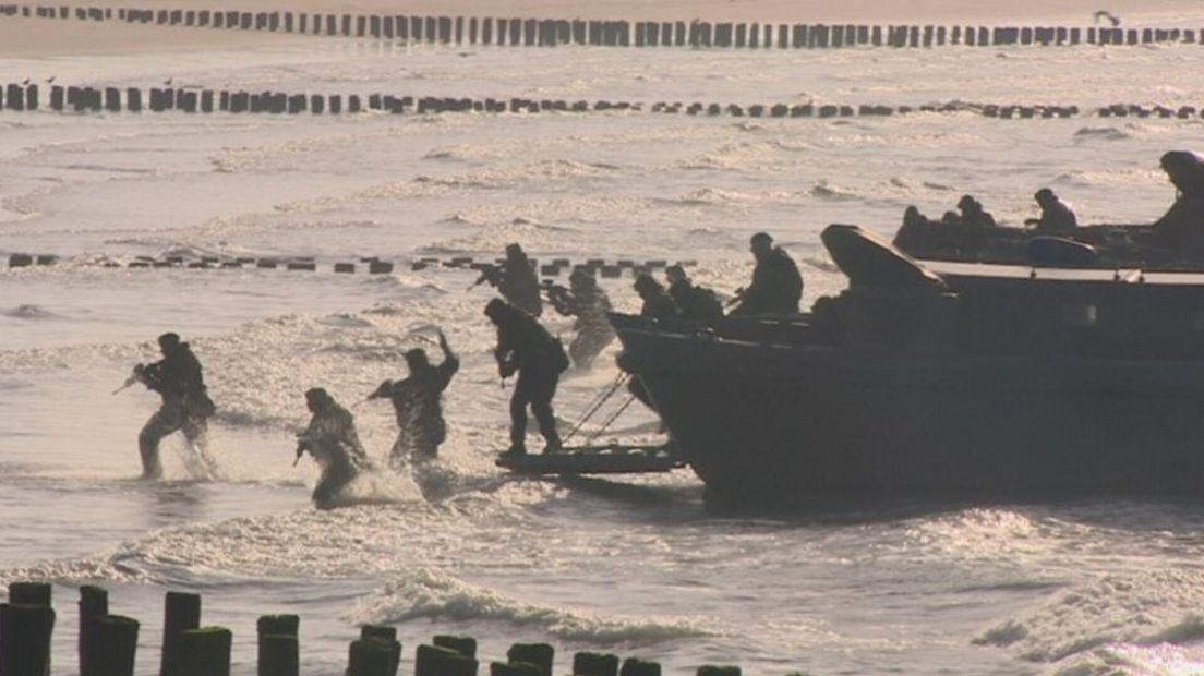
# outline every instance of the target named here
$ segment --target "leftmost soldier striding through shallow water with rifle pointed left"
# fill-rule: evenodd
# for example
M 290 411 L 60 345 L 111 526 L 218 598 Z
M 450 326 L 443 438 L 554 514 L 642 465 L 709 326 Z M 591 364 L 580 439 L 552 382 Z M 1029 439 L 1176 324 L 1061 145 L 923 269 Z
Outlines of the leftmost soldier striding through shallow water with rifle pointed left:
M 159 337 L 159 350 L 161 360 L 134 367 L 134 378 L 163 397 L 163 405 L 138 433 L 143 479 L 163 476 L 159 441 L 164 437 L 179 431 L 190 444 L 203 445 L 208 419 L 216 411 L 205 389 L 201 362 L 188 343 L 182 343 L 176 333 L 164 333 Z

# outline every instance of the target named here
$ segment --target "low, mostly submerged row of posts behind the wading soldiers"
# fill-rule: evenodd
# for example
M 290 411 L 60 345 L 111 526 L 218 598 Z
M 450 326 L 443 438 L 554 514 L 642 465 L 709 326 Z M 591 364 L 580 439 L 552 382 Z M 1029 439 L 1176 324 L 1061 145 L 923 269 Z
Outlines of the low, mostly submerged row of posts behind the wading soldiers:
M 54 265 L 59 260 L 59 256 L 51 254 L 10 254 L 8 255 L 8 267 L 20 268 L 31 266 L 48 266 Z M 588 259 L 584 261 L 572 261 L 569 259 L 551 259 L 550 261 L 539 265 L 538 260 L 529 259 L 531 265 L 539 272 L 542 277 L 560 277 L 562 273 L 568 271 L 580 271 L 588 273 L 592 277 L 602 277 L 603 279 L 618 279 L 624 275 L 624 273 L 630 273 L 631 275 L 638 275 L 641 273 L 650 273 L 656 269 L 663 269 L 668 267 L 669 262 L 667 260 L 649 260 L 649 261 L 637 261 L 631 259 L 622 259 L 616 261 L 607 261 L 604 259 Z M 472 256 L 454 256 L 450 259 L 417 259 L 411 261 L 411 271 L 418 272 L 429 268 L 464 268 L 473 269 L 477 272 L 483 272 L 488 268 L 498 266 L 503 262 L 502 259 L 494 261 L 477 261 Z M 105 261 L 100 263 L 102 267 L 128 267 L 128 268 L 188 268 L 188 269 L 242 269 L 242 268 L 261 268 L 261 269 L 287 269 L 287 271 L 303 271 L 303 272 L 315 272 L 318 271 L 318 263 L 313 257 L 288 257 L 288 259 L 272 259 L 272 257 L 240 257 L 240 259 L 222 259 L 218 256 L 202 256 L 200 259 L 185 259 L 184 256 L 164 256 L 161 259 L 155 259 L 150 256 L 138 256 L 132 261 L 124 263 L 124 266 L 116 261 Z M 697 261 L 678 261 L 677 265 L 683 267 L 689 267 L 697 265 Z M 336 273 L 355 273 L 356 271 L 365 271 L 368 274 L 391 274 L 395 269 L 393 261 L 382 260 L 376 256 L 365 256 L 355 262 L 336 262 L 331 267 L 332 272 Z M 2 675 L 0 675 L 2 676 Z

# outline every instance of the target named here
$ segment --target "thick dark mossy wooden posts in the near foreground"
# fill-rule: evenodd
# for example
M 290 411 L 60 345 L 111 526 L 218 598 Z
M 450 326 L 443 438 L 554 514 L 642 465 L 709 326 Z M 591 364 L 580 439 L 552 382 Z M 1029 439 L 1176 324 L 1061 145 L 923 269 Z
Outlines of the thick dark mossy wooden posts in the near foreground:
M 54 634 L 52 587 L 45 582 L 13 582 L 8 603 L 0 604 L 0 675 L 49 676 Z M 299 676 L 300 617 L 265 615 L 255 623 L 260 676 Z M 79 588 L 79 676 L 132 676 L 138 644 L 137 619 L 111 615 L 108 592 Z M 167 592 L 164 600 L 161 676 L 229 676 L 232 633 L 201 625 L 201 597 Z M 402 654 L 397 630 L 365 625 L 348 650 L 347 676 L 396 676 Z M 555 650 L 548 644 L 514 644 L 506 660 L 490 662 L 490 676 L 553 676 Z M 661 665 L 609 653 L 578 652 L 576 676 L 660 676 Z M 414 676 L 477 676 L 480 660 L 470 636 L 439 635 L 418 646 Z M 739 676 L 737 666 L 704 665 L 697 676 Z

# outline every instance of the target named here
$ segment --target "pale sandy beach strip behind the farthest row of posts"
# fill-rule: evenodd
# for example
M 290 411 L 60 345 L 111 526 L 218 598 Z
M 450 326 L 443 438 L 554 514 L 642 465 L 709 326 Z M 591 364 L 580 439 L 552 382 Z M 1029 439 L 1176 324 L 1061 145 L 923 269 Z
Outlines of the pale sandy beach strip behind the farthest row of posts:
M 99 0 L 88 7 L 225 10 L 195 0 L 153 0 L 123 2 Z M 248 0 L 242 11 L 405 13 L 417 16 L 507 16 L 523 18 L 594 18 L 627 20 L 710 20 L 710 22 L 863 22 L 863 23 L 948 23 L 982 24 L 1058 23 L 1092 25 L 1100 10 L 1096 0 L 1061 2 L 958 2 L 956 0 L 919 0 L 914 2 L 877 2 L 869 0 L 667 0 L 655 4 L 636 0 L 569 2 L 566 0 L 513 0 L 503 8 L 479 0 L 414 0 L 403 6 L 386 0 L 311 0 L 278 2 Z M 1199 2 L 1188 0 L 1126 0 L 1106 7 L 1122 25 L 1180 25 L 1204 16 Z M 1190 25 L 1190 24 L 1188 24 Z M 1187 26 L 1185 26 L 1187 28 Z M 159 26 L 71 19 L 22 17 L 0 18 L 0 55 L 53 57 L 81 54 L 120 54 L 157 51 L 224 49 L 244 46 L 270 46 L 297 40 L 285 34 L 265 31 L 216 30 L 188 26 Z M 312 37 L 305 37 L 312 40 Z

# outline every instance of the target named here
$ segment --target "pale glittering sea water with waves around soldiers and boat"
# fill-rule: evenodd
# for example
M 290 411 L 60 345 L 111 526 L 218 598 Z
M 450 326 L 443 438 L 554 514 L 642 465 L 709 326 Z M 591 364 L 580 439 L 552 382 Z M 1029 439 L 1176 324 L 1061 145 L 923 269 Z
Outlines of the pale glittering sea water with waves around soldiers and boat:
M 1191 17 L 1192 20 L 1199 17 Z M 1185 23 L 1184 25 L 1194 25 Z M 0 582 L 51 580 L 54 660 L 75 665 L 75 588 L 111 591 L 142 621 L 138 671 L 158 669 L 163 593 L 200 592 L 254 670 L 254 619 L 301 615 L 307 674 L 341 674 L 361 623 L 399 627 L 409 669 L 433 634 L 657 659 L 669 674 L 1204 672 L 1204 503 L 815 505 L 709 511 L 687 470 L 606 480 L 510 476 L 508 385 L 472 271 L 519 242 L 548 260 L 696 260 L 721 295 L 765 230 L 799 262 L 804 302 L 843 279 L 830 223 L 890 236 L 903 209 L 938 218 L 962 194 L 997 220 L 1035 215 L 1050 186 L 1080 223 L 1149 223 L 1174 198 L 1158 168 L 1199 119 L 1099 118 L 1110 103 L 1204 103 L 1197 46 L 848 51 L 403 47 L 313 40 L 153 57 L 10 59 L 0 79 L 148 89 L 609 100 L 590 114 L 0 114 Z M 1076 105 L 1074 119 L 973 113 L 768 119 L 654 114 L 657 101 L 922 106 Z M 136 256 L 312 256 L 318 272 L 130 269 Z M 393 274 L 334 274 L 378 256 Z M 603 280 L 635 310 L 630 278 Z M 549 310 L 550 312 L 550 310 Z M 545 314 L 568 338 L 571 320 Z M 464 360 L 449 438 L 429 466 L 356 482 L 348 506 L 309 503 L 293 467 L 302 393 L 352 408 L 384 461 L 401 355 L 445 331 Z M 178 438 L 146 482 L 136 437 L 155 395 L 111 395 L 154 338 L 179 332 L 218 404 L 196 472 Z M 616 346 L 562 378 L 573 427 L 619 375 Z M 614 410 L 625 395 L 604 407 Z M 632 407 L 600 433 L 656 439 Z M 799 411 L 805 416 L 807 411 Z M 1091 421 L 1082 421 L 1090 425 Z M 814 425 L 824 425 L 815 420 Z M 536 439 L 532 438 L 532 445 Z M 748 452 L 755 452 L 749 449 Z

